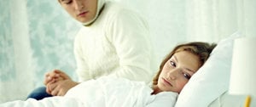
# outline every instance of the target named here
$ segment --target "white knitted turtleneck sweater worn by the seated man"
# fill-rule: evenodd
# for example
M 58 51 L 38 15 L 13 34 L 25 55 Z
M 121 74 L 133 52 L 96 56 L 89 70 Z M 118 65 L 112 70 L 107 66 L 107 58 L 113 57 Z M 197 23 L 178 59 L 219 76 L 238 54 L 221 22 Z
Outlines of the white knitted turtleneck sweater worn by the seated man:
M 74 42 L 80 82 L 106 75 L 149 82 L 157 68 L 153 52 L 146 21 L 110 2 Z

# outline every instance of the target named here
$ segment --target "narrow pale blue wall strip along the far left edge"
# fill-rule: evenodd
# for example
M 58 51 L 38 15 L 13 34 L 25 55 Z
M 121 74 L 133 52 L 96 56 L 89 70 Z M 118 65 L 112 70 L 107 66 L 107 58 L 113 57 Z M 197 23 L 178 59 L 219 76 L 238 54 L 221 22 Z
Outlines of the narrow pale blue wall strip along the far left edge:
M 15 78 L 14 45 L 10 36 L 11 22 L 9 1 L 0 3 L 0 81 L 9 81 Z

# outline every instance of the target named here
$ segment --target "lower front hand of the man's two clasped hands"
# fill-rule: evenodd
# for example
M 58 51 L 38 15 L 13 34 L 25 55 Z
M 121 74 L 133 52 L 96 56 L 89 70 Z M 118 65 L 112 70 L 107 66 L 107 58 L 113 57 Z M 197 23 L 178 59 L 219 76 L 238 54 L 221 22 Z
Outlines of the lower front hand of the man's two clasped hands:
M 53 83 L 49 82 L 46 86 L 46 92 L 53 96 L 64 96 L 70 88 L 75 87 L 78 84 L 78 82 L 73 82 L 71 79 Z

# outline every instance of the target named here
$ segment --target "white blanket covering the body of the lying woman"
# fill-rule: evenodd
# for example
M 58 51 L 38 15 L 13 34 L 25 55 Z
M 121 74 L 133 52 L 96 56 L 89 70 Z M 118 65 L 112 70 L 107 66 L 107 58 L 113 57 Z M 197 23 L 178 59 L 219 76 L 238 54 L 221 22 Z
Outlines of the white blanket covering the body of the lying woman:
M 80 83 L 64 97 L 13 101 L 0 104 L 0 107 L 172 107 L 175 104 L 177 93 L 151 95 L 152 91 L 144 82 L 101 77 Z

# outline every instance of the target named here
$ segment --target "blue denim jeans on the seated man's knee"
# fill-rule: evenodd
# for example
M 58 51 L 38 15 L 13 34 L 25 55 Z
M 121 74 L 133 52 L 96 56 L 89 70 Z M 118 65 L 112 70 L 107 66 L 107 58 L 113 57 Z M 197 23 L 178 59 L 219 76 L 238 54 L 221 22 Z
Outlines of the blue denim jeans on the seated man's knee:
M 44 99 L 47 97 L 52 97 L 52 95 L 46 93 L 46 87 L 38 87 L 27 96 L 27 99 L 40 100 L 40 99 Z

